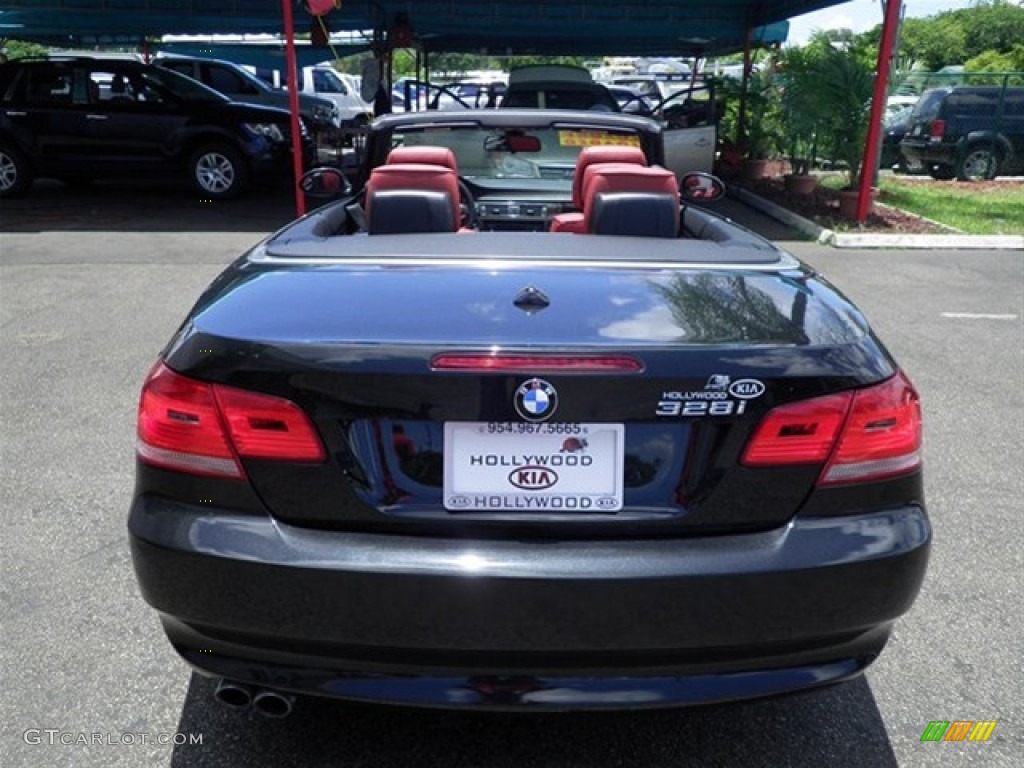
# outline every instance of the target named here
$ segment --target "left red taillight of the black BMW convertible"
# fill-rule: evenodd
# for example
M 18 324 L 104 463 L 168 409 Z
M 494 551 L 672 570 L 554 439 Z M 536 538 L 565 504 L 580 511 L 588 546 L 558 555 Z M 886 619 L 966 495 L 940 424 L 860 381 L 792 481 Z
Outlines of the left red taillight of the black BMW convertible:
M 209 384 L 157 364 L 138 406 L 138 457 L 190 474 L 245 478 L 241 458 L 319 462 L 324 445 L 291 400 Z

